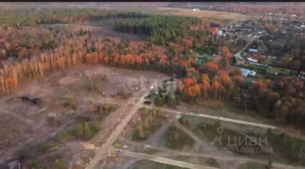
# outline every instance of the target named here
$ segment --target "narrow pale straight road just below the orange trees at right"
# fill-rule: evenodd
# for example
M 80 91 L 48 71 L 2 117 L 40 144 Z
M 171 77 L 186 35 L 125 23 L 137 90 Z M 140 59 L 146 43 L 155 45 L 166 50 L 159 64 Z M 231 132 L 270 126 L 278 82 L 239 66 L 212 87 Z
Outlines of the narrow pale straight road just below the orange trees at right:
M 153 109 L 151 106 L 147 106 L 147 108 L 148 109 Z M 178 113 L 178 114 L 191 115 L 191 116 L 199 116 L 199 117 L 204 117 L 204 118 L 208 118 L 208 119 L 218 119 L 218 120 L 225 121 L 225 122 L 233 122 L 233 123 L 245 124 L 245 125 L 249 125 L 249 126 L 257 126 L 257 127 L 262 127 L 262 128 L 270 128 L 270 129 L 277 129 L 278 128 L 276 126 L 271 126 L 271 125 L 267 125 L 267 124 L 247 122 L 247 121 L 242 121 L 242 120 L 224 118 L 224 117 L 220 117 L 220 116 L 210 116 L 210 115 L 199 114 L 199 113 L 195 113 L 195 112 L 187 112 L 187 111 L 180 111 L 180 110 L 174 110 L 174 109 L 164 109 L 164 108 L 160 108 L 160 110 L 166 111 L 166 112 Z

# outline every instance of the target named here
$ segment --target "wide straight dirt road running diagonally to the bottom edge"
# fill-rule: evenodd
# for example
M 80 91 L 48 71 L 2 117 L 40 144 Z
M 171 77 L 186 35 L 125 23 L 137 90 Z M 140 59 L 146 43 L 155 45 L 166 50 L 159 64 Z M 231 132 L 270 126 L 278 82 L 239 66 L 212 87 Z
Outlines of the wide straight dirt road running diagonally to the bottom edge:
M 94 158 L 92 159 L 91 163 L 85 169 L 95 169 L 95 166 L 98 164 L 99 160 L 103 159 L 106 153 L 109 152 L 109 148 L 112 146 L 113 142 L 117 139 L 120 135 L 121 131 L 124 127 L 128 124 L 131 118 L 135 115 L 138 109 L 140 109 L 143 105 L 144 97 L 149 94 L 150 91 L 146 91 L 144 95 L 138 100 L 138 102 L 131 108 L 130 113 L 126 116 L 126 118 L 120 123 L 119 126 L 114 130 L 114 132 L 110 135 L 108 140 L 105 144 L 103 144 L 99 151 L 95 154 Z M 126 109 L 125 106 L 121 106 L 119 109 Z

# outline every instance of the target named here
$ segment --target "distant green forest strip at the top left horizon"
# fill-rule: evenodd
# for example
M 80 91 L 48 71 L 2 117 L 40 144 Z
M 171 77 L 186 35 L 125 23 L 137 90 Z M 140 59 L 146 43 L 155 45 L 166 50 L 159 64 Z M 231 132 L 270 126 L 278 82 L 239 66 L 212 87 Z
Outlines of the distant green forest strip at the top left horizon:
M 2 26 L 34 26 L 37 24 L 76 23 L 104 18 L 142 18 L 142 12 L 121 12 L 96 8 L 7 9 L 0 11 Z

